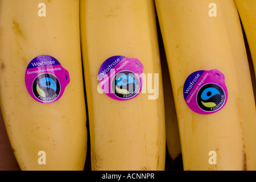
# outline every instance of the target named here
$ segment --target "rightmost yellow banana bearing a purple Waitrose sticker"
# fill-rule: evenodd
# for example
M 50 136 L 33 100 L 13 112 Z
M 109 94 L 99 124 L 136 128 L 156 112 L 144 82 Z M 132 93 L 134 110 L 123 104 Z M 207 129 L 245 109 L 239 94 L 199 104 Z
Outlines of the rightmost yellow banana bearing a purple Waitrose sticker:
M 255 104 L 233 0 L 156 0 L 184 170 L 255 170 Z

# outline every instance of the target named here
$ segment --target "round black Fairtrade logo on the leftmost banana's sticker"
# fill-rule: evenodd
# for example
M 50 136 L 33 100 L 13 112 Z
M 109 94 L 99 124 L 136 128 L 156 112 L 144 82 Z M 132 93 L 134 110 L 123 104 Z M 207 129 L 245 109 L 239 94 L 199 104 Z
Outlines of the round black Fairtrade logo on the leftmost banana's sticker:
M 35 78 L 32 90 L 38 100 L 50 102 L 59 96 L 60 82 L 54 75 L 43 73 Z

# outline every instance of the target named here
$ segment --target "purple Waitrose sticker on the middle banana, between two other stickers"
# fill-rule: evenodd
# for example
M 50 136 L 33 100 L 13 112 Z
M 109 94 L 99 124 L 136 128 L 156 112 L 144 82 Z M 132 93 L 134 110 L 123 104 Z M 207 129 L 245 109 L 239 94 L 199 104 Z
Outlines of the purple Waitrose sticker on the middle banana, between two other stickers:
M 137 97 L 142 90 L 143 65 L 135 58 L 109 57 L 101 65 L 98 80 L 109 97 L 125 101 Z

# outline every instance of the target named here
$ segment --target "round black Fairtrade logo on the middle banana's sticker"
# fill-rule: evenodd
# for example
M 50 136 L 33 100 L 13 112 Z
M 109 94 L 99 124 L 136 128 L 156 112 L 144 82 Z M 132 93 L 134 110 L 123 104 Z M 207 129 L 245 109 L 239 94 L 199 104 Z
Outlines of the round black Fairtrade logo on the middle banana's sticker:
M 119 98 L 131 98 L 139 93 L 141 82 L 138 76 L 130 71 L 117 73 L 112 80 L 112 91 Z

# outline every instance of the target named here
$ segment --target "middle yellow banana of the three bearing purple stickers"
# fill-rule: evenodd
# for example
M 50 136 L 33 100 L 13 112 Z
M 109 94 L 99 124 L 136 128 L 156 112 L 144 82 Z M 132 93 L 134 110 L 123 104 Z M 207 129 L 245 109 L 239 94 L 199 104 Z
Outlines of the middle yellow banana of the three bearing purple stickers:
M 83 0 L 80 8 L 92 170 L 164 170 L 154 1 Z

